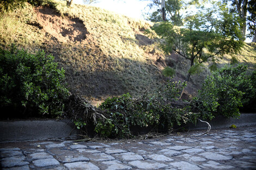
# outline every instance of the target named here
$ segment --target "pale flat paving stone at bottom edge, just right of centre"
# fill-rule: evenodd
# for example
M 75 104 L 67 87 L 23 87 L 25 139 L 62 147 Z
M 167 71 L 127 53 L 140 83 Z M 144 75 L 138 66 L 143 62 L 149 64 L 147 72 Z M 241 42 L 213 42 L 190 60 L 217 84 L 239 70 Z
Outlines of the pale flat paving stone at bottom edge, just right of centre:
M 135 166 L 139 169 L 160 169 L 167 167 L 164 163 L 158 163 L 149 160 L 138 160 L 138 161 L 131 161 L 129 162 L 130 165 Z

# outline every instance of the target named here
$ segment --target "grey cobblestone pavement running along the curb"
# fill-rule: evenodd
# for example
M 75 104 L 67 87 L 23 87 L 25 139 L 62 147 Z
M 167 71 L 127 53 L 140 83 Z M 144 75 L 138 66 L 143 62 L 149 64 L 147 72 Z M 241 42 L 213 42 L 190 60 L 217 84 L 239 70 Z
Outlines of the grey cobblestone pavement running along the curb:
M 192 131 L 189 134 L 199 134 Z M 111 142 L 0 143 L 3 169 L 256 169 L 256 127 Z M 0 168 L 1 169 L 1 168 Z

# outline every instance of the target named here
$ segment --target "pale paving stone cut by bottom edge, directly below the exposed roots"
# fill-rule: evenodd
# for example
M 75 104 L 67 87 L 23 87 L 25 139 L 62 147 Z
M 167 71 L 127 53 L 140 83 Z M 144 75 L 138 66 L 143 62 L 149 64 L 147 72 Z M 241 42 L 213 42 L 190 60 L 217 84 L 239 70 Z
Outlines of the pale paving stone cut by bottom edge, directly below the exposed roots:
M 66 166 L 70 170 L 99 170 L 100 168 L 94 165 L 90 162 L 72 162 L 72 163 L 65 163 L 64 166 Z

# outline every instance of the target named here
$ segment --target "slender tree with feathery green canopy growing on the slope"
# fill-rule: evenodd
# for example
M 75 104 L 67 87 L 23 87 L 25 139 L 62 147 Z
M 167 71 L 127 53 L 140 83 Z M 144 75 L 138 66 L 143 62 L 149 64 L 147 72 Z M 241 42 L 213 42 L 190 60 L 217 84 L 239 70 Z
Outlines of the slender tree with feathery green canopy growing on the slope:
M 186 80 L 196 73 L 203 62 L 212 61 L 219 55 L 238 52 L 243 45 L 239 29 L 239 18 L 230 15 L 224 6 L 216 10 L 198 9 L 196 15 L 185 18 L 184 27 L 173 26 L 170 22 L 155 24 L 153 30 L 162 39 L 164 52 L 175 51 L 190 61 Z

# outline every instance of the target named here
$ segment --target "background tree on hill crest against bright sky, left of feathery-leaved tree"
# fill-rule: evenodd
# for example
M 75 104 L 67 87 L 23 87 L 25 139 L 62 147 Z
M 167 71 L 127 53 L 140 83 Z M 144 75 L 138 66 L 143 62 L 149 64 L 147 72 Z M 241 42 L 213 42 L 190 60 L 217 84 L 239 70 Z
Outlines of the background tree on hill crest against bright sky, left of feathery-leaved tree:
M 152 22 L 170 21 L 176 26 L 182 25 L 180 10 L 182 8 L 181 0 L 151 0 L 148 4 L 149 13 L 147 20 Z M 163 20 L 163 18 L 165 20 Z

